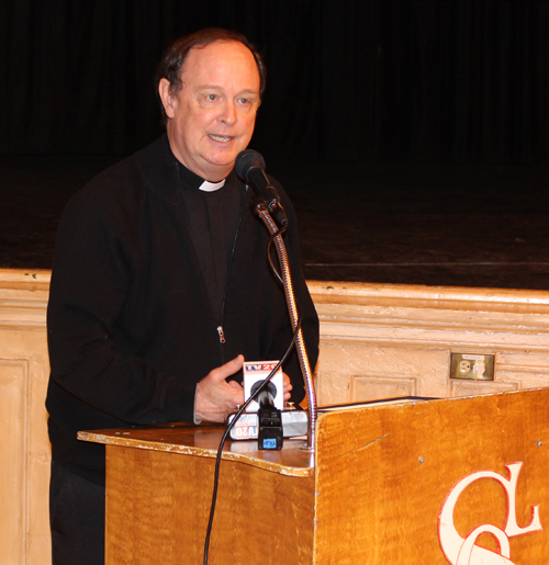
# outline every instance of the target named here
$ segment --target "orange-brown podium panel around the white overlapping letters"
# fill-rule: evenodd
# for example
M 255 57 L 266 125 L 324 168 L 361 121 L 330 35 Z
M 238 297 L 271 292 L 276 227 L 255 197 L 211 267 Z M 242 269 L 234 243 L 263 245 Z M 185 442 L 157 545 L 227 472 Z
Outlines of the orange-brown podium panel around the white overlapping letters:
M 505 464 L 518 461 L 518 524 L 540 505 L 549 527 L 548 403 L 549 391 L 538 389 L 322 416 L 316 565 L 447 564 L 437 530 L 450 490 L 479 471 L 507 478 Z M 483 478 L 463 491 L 453 520 L 464 538 L 484 523 L 504 528 L 506 512 L 503 487 Z M 479 544 L 495 551 L 492 536 Z M 513 563 L 540 564 L 548 554 L 545 530 L 511 539 Z

